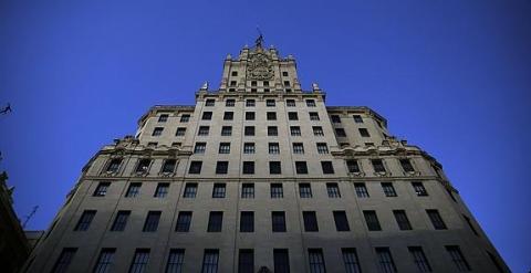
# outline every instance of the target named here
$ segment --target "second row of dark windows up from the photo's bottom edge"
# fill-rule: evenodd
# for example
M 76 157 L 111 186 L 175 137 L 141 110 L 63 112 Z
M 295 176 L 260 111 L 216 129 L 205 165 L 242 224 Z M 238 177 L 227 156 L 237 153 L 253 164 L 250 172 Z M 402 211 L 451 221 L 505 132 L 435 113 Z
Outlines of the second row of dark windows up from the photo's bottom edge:
M 156 232 L 162 217 L 162 211 L 148 211 L 143 232 Z M 448 229 L 438 210 L 428 209 L 426 213 L 435 230 Z M 87 231 L 93 219 L 96 216 L 95 210 L 85 210 L 81 214 L 74 231 Z M 332 212 L 336 231 L 351 231 L 347 216 L 344 210 L 335 210 Z M 393 210 L 396 224 L 399 230 L 413 230 L 412 223 L 407 218 L 405 210 Z M 131 210 L 119 210 L 114 218 L 111 231 L 124 231 L 131 217 Z M 382 231 L 376 211 L 363 210 L 363 217 L 368 231 Z M 302 211 L 302 219 L 305 232 L 319 232 L 317 214 L 315 211 Z M 191 211 L 179 211 L 176 232 L 189 232 L 192 220 Z M 207 232 L 221 232 L 223 223 L 223 211 L 210 211 L 208 217 Z M 254 211 L 240 211 L 240 232 L 254 232 Z M 287 232 L 285 212 L 271 212 L 271 231 Z

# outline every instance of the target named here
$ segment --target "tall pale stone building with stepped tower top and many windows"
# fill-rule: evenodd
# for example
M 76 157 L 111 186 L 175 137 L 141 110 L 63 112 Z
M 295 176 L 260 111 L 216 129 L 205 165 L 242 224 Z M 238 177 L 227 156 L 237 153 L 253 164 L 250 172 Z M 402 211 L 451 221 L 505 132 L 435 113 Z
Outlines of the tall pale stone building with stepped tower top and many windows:
M 259 38 L 83 169 L 29 272 L 509 272 L 419 147 Z

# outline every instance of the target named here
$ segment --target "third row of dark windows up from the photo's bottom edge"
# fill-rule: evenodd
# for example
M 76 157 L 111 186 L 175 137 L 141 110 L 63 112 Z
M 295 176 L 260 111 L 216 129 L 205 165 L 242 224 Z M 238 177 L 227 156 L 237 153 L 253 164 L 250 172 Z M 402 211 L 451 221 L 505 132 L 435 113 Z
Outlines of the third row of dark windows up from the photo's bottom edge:
M 386 197 L 397 197 L 395 187 L 392 182 L 382 182 L 382 191 Z M 104 197 L 107 195 L 111 182 L 100 182 L 94 190 L 94 197 Z M 134 198 L 140 193 L 142 182 L 132 182 L 125 192 L 126 198 Z M 195 182 L 188 182 L 185 186 L 184 198 L 196 198 L 198 185 Z M 423 182 L 412 182 L 413 190 L 418 197 L 427 197 L 428 191 L 424 187 Z M 355 182 L 354 190 L 358 198 L 369 198 L 371 195 L 364 182 Z M 168 182 L 157 183 L 157 188 L 153 197 L 155 198 L 165 198 L 169 191 Z M 337 183 L 327 182 L 326 192 L 330 198 L 341 198 L 341 192 Z M 283 198 L 283 187 L 282 183 L 270 183 L 270 193 L 271 198 Z M 312 186 L 308 182 L 299 183 L 299 196 L 301 198 L 312 198 Z M 217 182 L 214 183 L 212 198 L 225 198 L 226 197 L 226 183 Z M 242 183 L 241 187 L 241 198 L 254 198 L 254 183 Z

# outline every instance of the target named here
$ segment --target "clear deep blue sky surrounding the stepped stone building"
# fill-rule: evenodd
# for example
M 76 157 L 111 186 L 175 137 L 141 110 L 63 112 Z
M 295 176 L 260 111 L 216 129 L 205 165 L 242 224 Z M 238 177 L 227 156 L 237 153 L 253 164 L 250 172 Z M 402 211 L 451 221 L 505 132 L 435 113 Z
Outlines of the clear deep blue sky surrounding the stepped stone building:
M 45 229 L 83 165 L 155 104 L 194 104 L 252 44 L 329 105 L 366 105 L 444 166 L 514 272 L 531 267 L 531 1 L 0 1 L 0 170 Z

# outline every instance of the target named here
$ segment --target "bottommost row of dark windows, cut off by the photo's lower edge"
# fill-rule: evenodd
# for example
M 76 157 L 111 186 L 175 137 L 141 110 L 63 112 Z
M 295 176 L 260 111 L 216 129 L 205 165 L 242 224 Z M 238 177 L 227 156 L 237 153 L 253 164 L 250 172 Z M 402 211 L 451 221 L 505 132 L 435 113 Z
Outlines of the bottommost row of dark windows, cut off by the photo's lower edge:
M 458 272 L 471 271 L 470 264 L 466 260 L 459 245 L 445 245 L 445 250 L 448 253 L 449 260 L 454 263 L 455 270 Z M 397 266 L 393 259 L 391 248 L 378 246 L 374 249 L 377 258 L 377 265 L 381 273 L 395 273 Z M 428 261 L 426 253 L 421 246 L 414 245 L 407 246 L 409 252 L 409 261 L 415 264 L 418 272 L 431 272 L 431 265 Z M 53 273 L 66 272 L 70 264 L 74 260 L 77 252 L 77 248 L 65 248 L 61 252 L 58 261 L 52 270 Z M 185 249 L 170 249 L 166 265 L 166 273 L 180 273 L 184 272 L 185 264 Z M 487 252 L 492 259 L 492 262 L 498 265 L 494 256 Z M 116 249 L 104 248 L 101 250 L 100 255 L 94 264 L 94 273 L 106 273 L 113 270 L 115 264 Z M 355 248 L 341 249 L 341 255 L 343 260 L 344 271 L 347 273 L 361 273 L 362 266 Z M 143 273 L 147 272 L 147 265 L 149 263 L 150 249 L 136 249 L 132 258 L 129 265 L 129 273 Z M 324 260 L 323 249 L 308 249 L 308 261 L 310 266 L 310 273 L 325 273 L 326 263 Z M 290 255 L 289 249 L 273 249 L 273 270 L 275 273 L 289 273 L 290 269 Z M 217 273 L 219 270 L 220 250 L 219 249 L 205 249 L 202 254 L 201 273 Z M 190 261 L 188 261 L 190 262 Z M 238 251 L 238 273 L 253 273 L 254 269 L 254 250 L 253 249 L 239 249 Z M 261 271 L 260 271 L 261 272 Z

